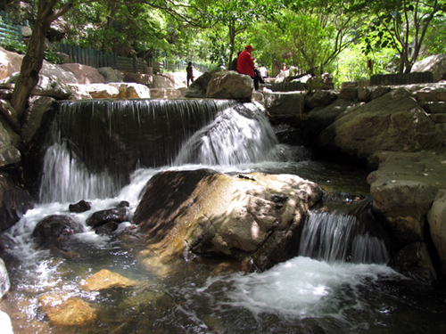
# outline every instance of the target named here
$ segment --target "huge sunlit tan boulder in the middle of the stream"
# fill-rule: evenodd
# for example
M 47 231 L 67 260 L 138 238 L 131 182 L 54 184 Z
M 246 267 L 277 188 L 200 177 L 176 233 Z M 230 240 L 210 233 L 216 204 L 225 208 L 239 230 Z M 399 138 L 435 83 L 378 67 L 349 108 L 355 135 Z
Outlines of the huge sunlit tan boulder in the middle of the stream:
M 224 256 L 264 270 L 297 255 L 304 217 L 321 194 L 295 175 L 168 171 L 147 183 L 133 223 L 166 261 Z

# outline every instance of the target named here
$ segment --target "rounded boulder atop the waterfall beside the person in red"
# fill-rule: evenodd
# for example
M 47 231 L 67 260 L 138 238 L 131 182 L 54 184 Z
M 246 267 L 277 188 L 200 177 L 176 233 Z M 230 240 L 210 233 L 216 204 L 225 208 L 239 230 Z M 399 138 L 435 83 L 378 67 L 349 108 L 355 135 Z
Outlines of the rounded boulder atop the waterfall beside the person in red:
M 250 99 L 254 83 L 252 77 L 239 74 L 233 70 L 215 73 L 211 77 L 206 97 L 211 99 Z

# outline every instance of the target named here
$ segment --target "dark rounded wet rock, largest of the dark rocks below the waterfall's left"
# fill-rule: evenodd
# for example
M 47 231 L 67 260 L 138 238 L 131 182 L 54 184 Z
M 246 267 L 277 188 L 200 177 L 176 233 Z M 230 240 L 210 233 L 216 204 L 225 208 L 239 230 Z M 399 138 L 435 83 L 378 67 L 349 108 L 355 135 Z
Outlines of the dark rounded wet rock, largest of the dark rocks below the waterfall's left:
M 39 245 L 61 247 L 73 234 L 84 232 L 82 224 L 70 216 L 46 216 L 37 223 L 32 236 Z

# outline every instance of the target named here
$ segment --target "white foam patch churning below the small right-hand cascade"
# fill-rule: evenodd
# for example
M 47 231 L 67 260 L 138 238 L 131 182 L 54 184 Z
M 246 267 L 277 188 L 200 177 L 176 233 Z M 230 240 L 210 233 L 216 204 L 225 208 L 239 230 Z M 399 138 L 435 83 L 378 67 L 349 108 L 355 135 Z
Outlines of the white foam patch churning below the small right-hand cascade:
M 384 278 L 403 279 L 385 265 L 329 265 L 309 257 L 294 257 L 264 273 L 212 277 L 196 293 L 210 299 L 223 294 L 224 305 L 243 307 L 255 317 L 263 313 L 285 318 L 330 316 L 348 322 L 344 309 L 368 307 L 359 287 Z

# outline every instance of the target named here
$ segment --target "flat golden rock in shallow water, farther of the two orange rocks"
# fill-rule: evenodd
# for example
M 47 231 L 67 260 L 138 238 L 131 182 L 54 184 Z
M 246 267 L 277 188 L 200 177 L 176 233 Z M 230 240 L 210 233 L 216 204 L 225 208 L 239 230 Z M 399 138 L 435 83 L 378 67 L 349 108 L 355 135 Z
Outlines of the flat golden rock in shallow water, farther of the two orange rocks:
M 87 278 L 80 285 L 80 288 L 87 291 L 100 291 L 103 289 L 125 289 L 136 285 L 137 281 L 129 280 L 119 273 L 112 273 L 107 269 L 103 269 Z

